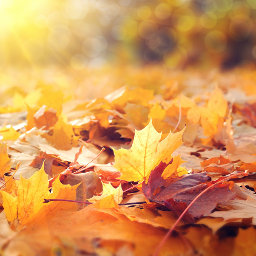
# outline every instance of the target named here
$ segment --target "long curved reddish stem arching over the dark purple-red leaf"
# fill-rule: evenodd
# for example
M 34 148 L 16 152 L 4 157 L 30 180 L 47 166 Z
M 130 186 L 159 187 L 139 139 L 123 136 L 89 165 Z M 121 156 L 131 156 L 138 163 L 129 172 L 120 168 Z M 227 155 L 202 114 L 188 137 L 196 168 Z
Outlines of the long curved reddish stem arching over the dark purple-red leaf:
M 203 193 L 205 193 L 206 191 L 208 191 L 210 188 L 212 188 L 213 186 L 215 186 L 216 184 L 222 183 L 223 181 L 226 181 L 228 179 L 234 178 L 236 176 L 247 176 L 247 170 L 244 173 L 238 173 L 238 174 L 233 174 L 230 175 L 228 177 L 226 177 L 225 179 L 222 179 L 216 183 L 214 183 L 213 185 L 210 185 L 210 187 L 206 188 L 204 191 L 202 191 L 201 193 L 199 193 L 199 195 L 197 195 L 193 201 L 188 205 L 188 207 L 183 211 L 183 213 L 179 216 L 179 219 L 176 220 L 176 222 L 174 223 L 173 227 L 168 231 L 168 233 L 166 234 L 166 236 L 164 237 L 164 239 L 162 240 L 162 242 L 159 244 L 159 246 L 157 247 L 154 256 L 158 256 L 159 251 L 161 250 L 162 246 L 165 244 L 165 242 L 167 241 L 167 239 L 169 238 L 169 236 L 171 235 L 171 233 L 173 232 L 174 228 L 176 228 L 176 225 L 179 223 L 179 221 L 182 219 L 182 217 L 185 215 L 185 213 L 188 211 L 189 208 L 191 208 L 191 206 L 193 205 L 194 202 L 196 202 L 196 200 L 202 196 Z

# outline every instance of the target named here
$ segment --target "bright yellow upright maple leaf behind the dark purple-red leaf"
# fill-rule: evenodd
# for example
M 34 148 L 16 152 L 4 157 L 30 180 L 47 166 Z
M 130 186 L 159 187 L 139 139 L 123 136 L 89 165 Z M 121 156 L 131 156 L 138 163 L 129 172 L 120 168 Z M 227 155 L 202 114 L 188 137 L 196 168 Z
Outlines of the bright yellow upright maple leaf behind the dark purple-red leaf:
M 185 129 L 185 128 L 184 128 Z M 114 150 L 114 167 L 122 172 L 119 179 L 126 181 L 148 180 L 151 171 L 161 161 L 169 162 L 171 154 L 182 145 L 183 131 L 175 134 L 171 132 L 161 142 L 161 133 L 158 133 L 152 121 L 141 131 L 135 131 L 134 141 L 129 150 Z

